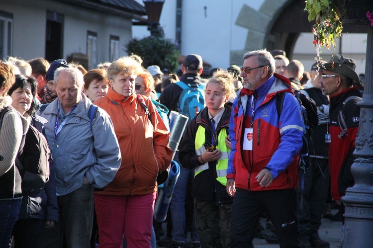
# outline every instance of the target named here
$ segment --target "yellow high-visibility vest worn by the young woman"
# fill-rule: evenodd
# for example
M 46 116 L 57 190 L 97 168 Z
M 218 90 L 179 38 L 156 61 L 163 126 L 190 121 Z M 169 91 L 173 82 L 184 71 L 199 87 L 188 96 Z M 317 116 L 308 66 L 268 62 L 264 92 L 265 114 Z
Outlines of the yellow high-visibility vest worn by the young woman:
M 194 147 L 195 147 L 195 154 L 197 156 L 201 156 L 206 151 L 206 148 L 203 146 L 203 144 L 206 141 L 205 132 L 206 132 L 206 129 L 202 126 L 199 126 L 197 129 L 197 133 L 195 134 Z M 207 132 L 210 132 L 210 131 L 207 130 Z M 229 158 L 229 152 L 230 152 L 230 150 L 225 145 L 225 138 L 227 138 L 227 132 L 225 130 L 221 130 L 218 136 L 219 144 L 216 146 L 216 149 L 219 149 L 222 154 L 216 164 L 216 173 L 217 173 L 216 179 L 224 186 L 227 184 L 226 176 L 227 176 L 228 158 Z M 206 169 L 208 169 L 208 162 L 203 165 L 199 165 L 198 167 L 195 168 L 194 177 Z

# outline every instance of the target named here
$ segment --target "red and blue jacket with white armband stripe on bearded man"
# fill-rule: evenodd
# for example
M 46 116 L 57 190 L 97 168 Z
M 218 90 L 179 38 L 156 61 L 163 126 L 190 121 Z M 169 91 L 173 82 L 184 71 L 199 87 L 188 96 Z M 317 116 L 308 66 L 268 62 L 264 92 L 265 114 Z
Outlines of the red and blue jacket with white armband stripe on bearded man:
M 285 94 L 279 117 L 276 96 L 282 91 L 289 94 Z M 244 137 L 245 128 L 250 127 L 252 135 Z M 250 191 L 296 188 L 303 130 L 300 105 L 288 79 L 275 74 L 254 91 L 243 88 L 230 117 L 232 150 L 227 178 L 235 179 L 237 188 Z M 249 138 L 253 150 L 245 151 L 243 140 Z M 260 186 L 255 179 L 264 168 L 274 178 L 269 187 Z

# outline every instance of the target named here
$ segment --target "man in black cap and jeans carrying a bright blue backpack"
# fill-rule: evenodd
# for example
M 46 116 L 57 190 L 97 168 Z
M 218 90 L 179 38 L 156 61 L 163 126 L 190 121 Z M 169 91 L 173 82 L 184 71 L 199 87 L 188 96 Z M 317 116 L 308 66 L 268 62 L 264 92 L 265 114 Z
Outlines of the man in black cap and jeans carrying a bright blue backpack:
M 189 54 L 187 57 L 185 57 L 184 63 L 182 64 L 183 76 L 180 80 L 181 82 L 178 83 L 184 87 L 185 85 L 187 87 L 189 87 L 188 85 L 201 87 L 202 83 L 200 82 L 199 75 L 202 73 L 202 71 L 203 65 L 201 56 L 197 54 Z M 170 111 L 181 112 L 181 109 L 184 109 L 184 106 L 180 106 L 179 98 L 181 97 L 183 88 L 179 86 L 178 83 L 171 83 L 166 86 L 159 97 L 159 102 L 165 105 Z M 202 95 L 204 103 L 204 94 Z M 199 110 L 196 109 L 196 113 L 201 111 L 202 108 Z M 182 112 L 182 114 L 187 115 L 187 113 L 184 112 Z M 189 115 L 187 116 L 189 117 L 189 121 L 194 117 Z M 194 178 L 194 169 L 184 168 L 183 165 L 180 164 L 178 152 L 175 154 L 174 160 L 179 163 L 181 169 L 178 181 L 175 185 L 174 194 L 171 199 L 172 247 L 186 247 L 187 226 L 185 202 L 187 198 L 187 185 L 188 182 L 191 182 Z M 192 223 L 191 242 L 193 243 L 191 244 L 193 247 L 199 247 L 199 238 L 195 230 L 194 218 Z

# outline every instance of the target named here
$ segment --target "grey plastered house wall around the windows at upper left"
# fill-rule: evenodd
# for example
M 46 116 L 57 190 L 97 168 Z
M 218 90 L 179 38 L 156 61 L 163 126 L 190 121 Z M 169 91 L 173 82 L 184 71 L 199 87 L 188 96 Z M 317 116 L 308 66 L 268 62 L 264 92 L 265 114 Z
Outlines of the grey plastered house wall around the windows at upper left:
M 0 10 L 13 14 L 13 56 L 25 60 L 45 57 L 47 10 L 64 15 L 63 58 L 87 54 L 87 31 L 97 33 L 97 61 L 109 60 L 110 35 L 119 37 L 119 57 L 127 55 L 132 20 L 50 0 L 1 0 Z

